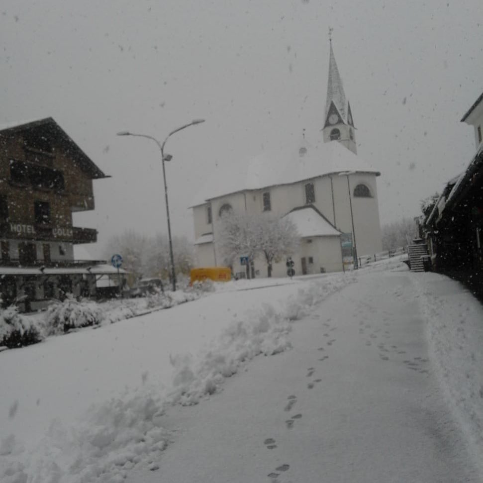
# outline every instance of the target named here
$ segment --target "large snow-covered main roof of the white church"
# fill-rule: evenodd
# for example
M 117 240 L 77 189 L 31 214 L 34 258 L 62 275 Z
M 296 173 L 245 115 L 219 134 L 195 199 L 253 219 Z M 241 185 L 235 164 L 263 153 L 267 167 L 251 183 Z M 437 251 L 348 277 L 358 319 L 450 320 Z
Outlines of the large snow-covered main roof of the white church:
M 203 180 L 190 207 L 226 194 L 288 185 L 344 171 L 381 174 L 338 141 L 306 148 L 304 154 L 299 153 L 298 148 L 293 154 L 263 152 L 211 173 L 207 180 Z

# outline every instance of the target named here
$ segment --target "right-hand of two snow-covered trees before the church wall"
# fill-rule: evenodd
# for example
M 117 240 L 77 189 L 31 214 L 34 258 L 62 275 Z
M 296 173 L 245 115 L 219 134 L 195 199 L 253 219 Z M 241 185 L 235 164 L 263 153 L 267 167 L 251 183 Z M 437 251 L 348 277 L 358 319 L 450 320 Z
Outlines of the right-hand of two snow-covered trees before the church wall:
M 297 227 L 288 218 L 262 214 L 256 221 L 260 233 L 259 247 L 267 262 L 267 275 L 272 277 L 273 262 L 292 255 L 297 249 L 300 235 Z

